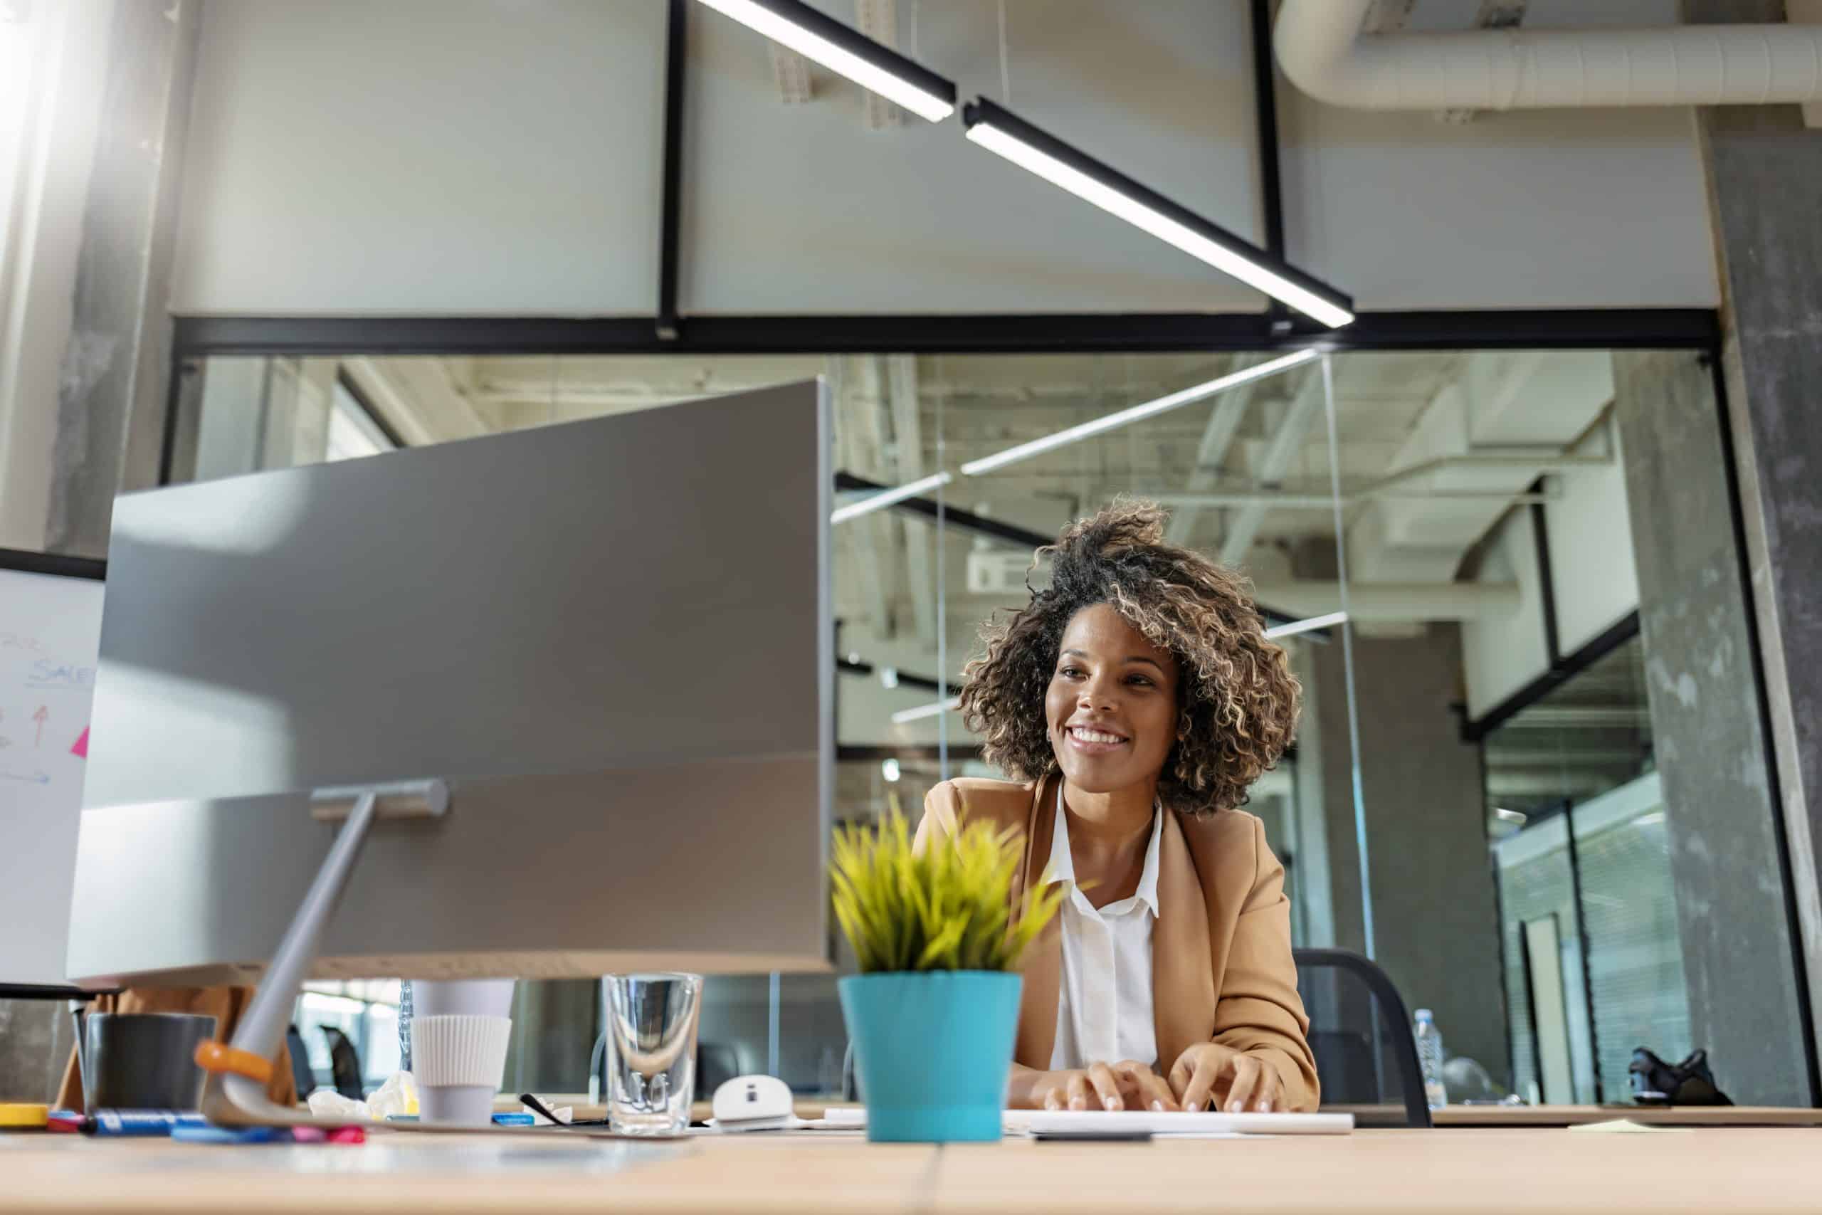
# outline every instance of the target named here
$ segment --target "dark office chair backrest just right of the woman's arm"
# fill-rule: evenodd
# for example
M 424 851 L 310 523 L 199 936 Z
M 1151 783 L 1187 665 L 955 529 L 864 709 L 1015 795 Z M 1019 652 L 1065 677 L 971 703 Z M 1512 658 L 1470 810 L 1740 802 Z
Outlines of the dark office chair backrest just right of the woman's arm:
M 1418 1038 L 1387 973 L 1346 949 L 1294 949 L 1323 1108 L 1359 1126 L 1430 1128 Z

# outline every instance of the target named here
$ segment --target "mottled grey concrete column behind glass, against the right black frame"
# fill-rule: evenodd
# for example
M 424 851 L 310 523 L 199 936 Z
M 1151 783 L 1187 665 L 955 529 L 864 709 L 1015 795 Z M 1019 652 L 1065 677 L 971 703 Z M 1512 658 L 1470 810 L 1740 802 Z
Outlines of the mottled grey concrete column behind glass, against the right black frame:
M 1795 929 L 1715 381 L 1689 352 L 1612 361 L 1691 1042 L 1709 1049 L 1736 1102 L 1807 1106 Z

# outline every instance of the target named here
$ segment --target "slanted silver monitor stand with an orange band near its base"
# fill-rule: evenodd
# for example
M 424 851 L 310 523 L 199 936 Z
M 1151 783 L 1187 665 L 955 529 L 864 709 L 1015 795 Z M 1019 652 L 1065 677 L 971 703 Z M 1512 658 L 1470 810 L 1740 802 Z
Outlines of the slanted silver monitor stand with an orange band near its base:
M 202 1113 L 219 1126 L 344 1126 L 346 1120 L 315 1118 L 288 1109 L 266 1097 L 271 1078 L 271 1060 L 284 1044 L 292 1024 L 292 1009 L 304 978 L 317 958 L 322 929 L 348 876 L 361 858 L 361 847 L 375 820 L 381 818 L 441 818 L 448 812 L 450 791 L 441 780 L 399 781 L 390 785 L 355 785 L 317 789 L 310 794 L 310 814 L 322 822 L 346 818 L 343 829 L 322 858 L 322 867 L 310 882 L 304 902 L 299 904 L 292 925 L 284 929 L 279 951 L 253 993 L 253 1004 L 235 1026 L 228 1046 L 206 1042 L 197 1049 L 197 1064 L 208 1073 L 202 1089 Z

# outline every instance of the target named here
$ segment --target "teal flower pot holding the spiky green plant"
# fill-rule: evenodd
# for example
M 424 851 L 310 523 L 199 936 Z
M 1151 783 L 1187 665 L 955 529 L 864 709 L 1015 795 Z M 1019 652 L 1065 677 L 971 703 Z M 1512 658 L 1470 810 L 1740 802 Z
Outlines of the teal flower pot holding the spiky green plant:
M 1018 1035 L 1018 975 L 1002 971 L 840 980 L 842 1016 L 867 1102 L 867 1138 L 997 1140 Z

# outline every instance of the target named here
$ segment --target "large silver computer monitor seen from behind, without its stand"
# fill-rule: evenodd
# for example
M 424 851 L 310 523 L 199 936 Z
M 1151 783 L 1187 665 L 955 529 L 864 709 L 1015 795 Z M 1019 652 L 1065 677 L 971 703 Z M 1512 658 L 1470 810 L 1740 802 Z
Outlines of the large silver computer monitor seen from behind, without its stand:
M 379 822 L 317 976 L 827 969 L 814 383 L 122 497 L 69 975 L 253 982 Z

